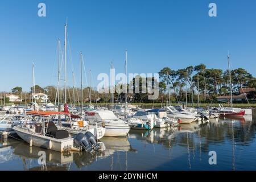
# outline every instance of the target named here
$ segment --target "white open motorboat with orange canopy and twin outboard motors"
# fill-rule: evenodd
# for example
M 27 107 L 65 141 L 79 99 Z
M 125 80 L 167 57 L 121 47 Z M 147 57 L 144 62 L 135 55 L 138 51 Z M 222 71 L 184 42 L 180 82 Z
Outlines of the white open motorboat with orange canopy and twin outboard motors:
M 68 131 L 58 129 L 52 121 L 56 115 L 70 117 L 71 114 L 55 111 L 28 111 L 26 121 L 22 125 L 14 126 L 13 130 L 30 146 L 59 152 L 104 150 L 104 144 L 97 143 L 94 135 L 90 132 L 80 133 L 76 138 L 72 138 Z

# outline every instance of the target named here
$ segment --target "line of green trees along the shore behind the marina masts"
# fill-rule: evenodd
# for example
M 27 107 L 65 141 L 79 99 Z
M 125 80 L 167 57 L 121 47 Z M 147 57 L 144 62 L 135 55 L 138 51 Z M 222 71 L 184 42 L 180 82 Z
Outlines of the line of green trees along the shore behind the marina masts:
M 214 100 L 217 96 L 239 94 L 240 88 L 256 88 L 256 78 L 243 68 L 234 69 L 231 72 L 232 90 L 230 90 L 229 70 L 207 68 L 204 64 L 190 65 L 187 68 L 171 69 L 164 67 L 159 71 L 159 97 L 157 100 L 148 100 L 148 93 L 142 93 L 142 78 L 139 77 L 139 85 L 136 85 L 135 78 L 130 83 L 135 89 L 139 86 L 139 93 L 128 93 L 127 86 L 127 101 L 128 102 L 179 102 L 185 101 L 186 98 L 189 102 L 197 101 L 197 94 L 201 101 Z M 148 78 L 146 78 L 147 80 Z M 154 86 L 154 82 L 152 82 Z M 116 85 L 117 86 L 117 85 Z M 121 86 L 122 88 L 122 86 Z M 46 86 L 45 88 L 35 85 L 36 93 L 46 93 L 49 101 L 57 102 L 57 87 Z M 113 97 L 114 102 L 124 102 L 125 94 L 115 93 L 105 94 L 97 92 L 97 89 L 86 87 L 83 89 L 82 102 L 110 102 Z M 11 90 L 11 93 L 22 96 L 23 100 L 26 96 L 26 101 L 30 101 L 31 92 L 23 92 L 20 86 L 16 86 Z M 187 94 L 186 94 L 187 93 Z M 3 93 L 2 93 L 3 96 Z M 255 93 L 250 96 L 251 99 L 255 98 Z M 64 102 L 64 89 L 60 89 L 60 102 Z M 80 88 L 67 88 L 67 102 L 71 104 L 79 104 L 81 102 L 81 89 Z

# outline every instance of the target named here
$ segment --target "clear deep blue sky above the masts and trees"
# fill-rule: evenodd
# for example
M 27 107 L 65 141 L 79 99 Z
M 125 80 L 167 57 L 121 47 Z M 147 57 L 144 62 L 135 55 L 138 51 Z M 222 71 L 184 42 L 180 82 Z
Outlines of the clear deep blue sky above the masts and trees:
M 46 17 L 38 16 L 41 2 Z M 211 2 L 217 5 L 217 17 L 208 15 Z M 32 61 L 36 85 L 57 85 L 57 39 L 63 48 L 67 18 L 69 86 L 72 71 L 80 85 L 80 52 L 87 80 L 91 69 L 96 86 L 99 73 L 109 74 L 110 61 L 116 73 L 124 72 L 126 49 L 129 73 L 200 63 L 227 69 L 229 51 L 233 68 L 256 76 L 255 7 L 254 0 L 1 0 L 0 91 L 15 86 L 29 91 Z

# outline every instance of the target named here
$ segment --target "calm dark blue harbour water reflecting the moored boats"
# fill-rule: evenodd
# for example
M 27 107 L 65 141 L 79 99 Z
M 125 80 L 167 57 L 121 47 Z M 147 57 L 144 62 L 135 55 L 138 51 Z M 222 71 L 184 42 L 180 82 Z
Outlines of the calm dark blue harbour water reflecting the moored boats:
M 42 148 L 8 139 L 0 143 L 0 170 L 256 170 L 255 114 L 175 129 L 131 130 L 127 138 L 104 137 L 102 155 L 44 150 L 44 167 L 38 164 Z M 216 165 L 209 165 L 209 151 L 217 152 Z

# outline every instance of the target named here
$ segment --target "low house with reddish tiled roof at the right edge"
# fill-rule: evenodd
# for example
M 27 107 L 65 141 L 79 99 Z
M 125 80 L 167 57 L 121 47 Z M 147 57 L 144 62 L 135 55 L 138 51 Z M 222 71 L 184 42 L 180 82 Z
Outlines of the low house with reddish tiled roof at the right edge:
M 239 89 L 239 95 L 233 95 L 232 96 L 232 101 L 246 101 L 246 97 L 248 94 L 251 92 L 255 92 L 255 88 L 241 88 Z M 230 102 L 231 97 L 230 96 L 219 96 L 216 98 L 218 101 L 228 101 Z

